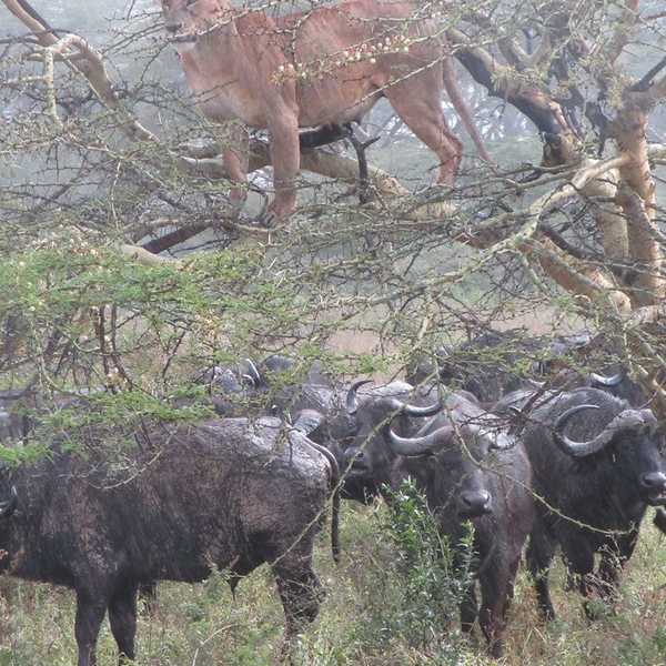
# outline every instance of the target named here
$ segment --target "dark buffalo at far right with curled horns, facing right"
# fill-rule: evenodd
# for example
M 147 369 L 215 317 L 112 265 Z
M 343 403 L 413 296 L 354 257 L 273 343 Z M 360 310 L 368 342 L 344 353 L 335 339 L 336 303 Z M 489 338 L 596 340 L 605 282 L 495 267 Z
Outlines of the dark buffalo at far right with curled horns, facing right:
M 615 593 L 646 507 L 666 503 L 663 437 L 649 410 L 596 389 L 544 394 L 526 416 L 537 497 L 527 561 L 541 612 L 553 618 L 548 568 L 557 545 L 586 599 Z

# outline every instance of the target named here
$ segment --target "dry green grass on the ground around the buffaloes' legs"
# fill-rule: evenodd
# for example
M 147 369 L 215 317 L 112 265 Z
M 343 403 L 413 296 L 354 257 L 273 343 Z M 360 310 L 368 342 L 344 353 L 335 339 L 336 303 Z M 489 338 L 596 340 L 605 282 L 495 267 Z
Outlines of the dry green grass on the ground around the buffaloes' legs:
M 395 552 L 380 536 L 385 508 L 343 505 L 343 562 L 336 567 L 326 532 L 316 546 L 316 571 L 326 589 L 319 619 L 302 636 L 300 666 L 405 666 L 495 664 L 478 630 L 456 662 L 437 656 L 442 635 L 427 647 L 411 645 L 392 628 L 401 608 L 401 579 L 391 566 Z M 377 517 L 377 512 L 381 514 Z M 652 512 L 650 512 L 652 513 Z M 652 515 L 648 515 L 652 518 Z M 74 599 L 70 591 L 22 581 L 0 581 L 0 666 L 70 666 L 75 659 Z M 545 626 L 529 581 L 519 574 L 509 615 L 506 656 L 518 666 L 657 666 L 666 663 L 666 541 L 649 519 L 627 567 L 615 612 L 589 623 L 577 594 L 564 591 L 557 564 L 553 596 L 558 619 Z M 138 666 L 262 666 L 274 664 L 282 646 L 282 606 L 270 572 L 243 581 L 235 599 L 222 575 L 196 585 L 163 583 L 154 616 L 141 614 Z M 451 625 L 455 633 L 455 623 Z M 115 645 L 104 623 L 99 666 L 115 666 Z

